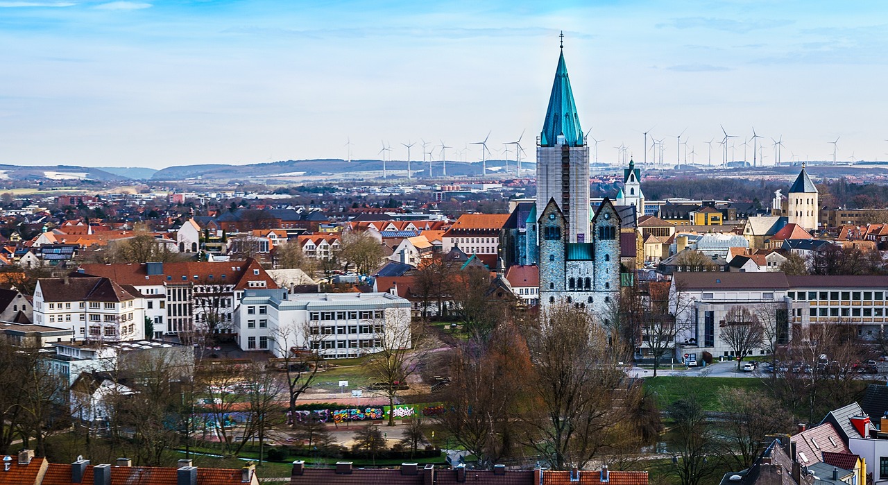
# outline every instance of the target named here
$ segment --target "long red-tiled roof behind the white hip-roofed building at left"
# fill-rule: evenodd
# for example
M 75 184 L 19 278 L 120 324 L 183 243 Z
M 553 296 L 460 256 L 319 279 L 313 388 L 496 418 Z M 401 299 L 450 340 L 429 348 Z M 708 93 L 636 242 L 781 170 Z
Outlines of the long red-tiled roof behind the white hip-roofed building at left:
M 199 282 L 200 284 L 234 284 L 234 288 L 242 290 L 248 282 L 266 282 L 265 288 L 278 288 L 271 276 L 259 265 L 256 259 L 248 258 L 234 261 L 184 261 L 163 263 L 163 274 L 148 274 L 147 265 L 116 263 L 113 265 L 88 264 L 81 265 L 84 274 L 104 276 L 120 285 L 151 286 L 164 284 L 184 284 Z M 258 274 L 257 274 L 258 272 Z M 196 276 L 196 277 L 195 277 Z M 168 279 L 169 277 L 169 279 Z

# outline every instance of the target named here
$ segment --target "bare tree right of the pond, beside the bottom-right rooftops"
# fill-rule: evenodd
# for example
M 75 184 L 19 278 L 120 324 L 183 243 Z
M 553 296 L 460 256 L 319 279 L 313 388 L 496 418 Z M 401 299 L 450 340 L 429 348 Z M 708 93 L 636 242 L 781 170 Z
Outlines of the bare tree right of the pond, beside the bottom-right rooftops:
M 767 435 L 789 433 L 793 417 L 779 402 L 756 391 L 725 389 L 718 396 L 725 412 L 726 456 L 740 468 L 749 468 L 765 449 Z

